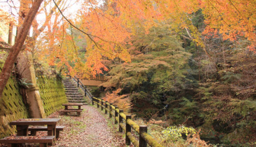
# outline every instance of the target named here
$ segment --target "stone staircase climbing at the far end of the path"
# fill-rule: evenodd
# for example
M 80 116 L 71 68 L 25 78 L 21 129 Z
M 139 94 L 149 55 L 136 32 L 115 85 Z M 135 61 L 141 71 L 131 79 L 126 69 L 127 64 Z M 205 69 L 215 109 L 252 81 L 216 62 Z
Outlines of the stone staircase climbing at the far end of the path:
M 78 91 L 78 87 L 71 81 L 71 79 L 64 79 L 63 84 L 68 102 L 85 103 L 84 95 Z

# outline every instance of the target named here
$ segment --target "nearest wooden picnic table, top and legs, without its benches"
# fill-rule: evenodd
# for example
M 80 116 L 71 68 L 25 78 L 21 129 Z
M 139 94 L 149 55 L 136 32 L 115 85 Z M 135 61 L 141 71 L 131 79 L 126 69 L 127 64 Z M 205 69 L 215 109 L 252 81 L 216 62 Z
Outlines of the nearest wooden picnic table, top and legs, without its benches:
M 10 125 L 16 125 L 17 136 L 28 136 L 29 125 L 47 125 L 47 135 L 55 136 L 56 138 L 56 124 L 61 119 L 19 119 L 10 122 Z

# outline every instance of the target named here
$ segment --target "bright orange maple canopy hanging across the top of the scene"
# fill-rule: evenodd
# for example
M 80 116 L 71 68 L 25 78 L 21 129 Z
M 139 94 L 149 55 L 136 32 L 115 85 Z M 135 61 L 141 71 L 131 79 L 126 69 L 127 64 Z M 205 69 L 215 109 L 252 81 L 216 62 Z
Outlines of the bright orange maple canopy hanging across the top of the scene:
M 203 48 L 203 38 L 220 33 L 224 40 L 245 38 L 249 41 L 249 48 L 255 49 L 255 6 L 255 0 L 107 0 L 103 5 L 98 0 L 83 0 L 76 20 L 71 22 L 91 34 L 93 39 L 85 34 L 79 36 L 86 40 L 85 60 L 79 57 L 70 33 L 65 32 L 69 25 L 58 25 L 57 17 L 54 20 L 56 29 L 49 29 L 50 35 L 46 36 L 49 46 L 44 53 L 49 55 L 50 65 L 67 67 L 71 74 L 96 75 L 108 70 L 103 60 L 129 62 L 127 45 L 132 44 L 130 38 L 140 31 L 139 28 L 145 28 L 147 33 L 149 28 L 162 22 L 169 24 L 170 31 L 177 34 L 185 31 Z M 203 33 L 192 23 L 191 14 L 198 10 L 202 10 L 205 18 Z M 71 66 L 70 62 L 74 65 Z

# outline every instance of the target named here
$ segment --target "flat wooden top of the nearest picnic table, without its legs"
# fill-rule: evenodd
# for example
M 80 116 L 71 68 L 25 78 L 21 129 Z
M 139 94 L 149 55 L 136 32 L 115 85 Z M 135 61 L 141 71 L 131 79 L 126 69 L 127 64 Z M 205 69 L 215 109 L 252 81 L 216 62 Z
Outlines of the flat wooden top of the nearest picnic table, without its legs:
M 61 119 L 19 119 L 10 125 L 56 125 Z

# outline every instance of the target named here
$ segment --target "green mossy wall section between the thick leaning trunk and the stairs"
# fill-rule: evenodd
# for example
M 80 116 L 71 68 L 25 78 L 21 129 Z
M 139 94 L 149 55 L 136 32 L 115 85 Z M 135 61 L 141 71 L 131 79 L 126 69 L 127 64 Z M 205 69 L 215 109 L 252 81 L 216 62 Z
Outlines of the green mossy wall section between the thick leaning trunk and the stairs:
M 37 76 L 36 79 L 45 115 L 49 116 L 67 102 L 63 83 L 55 77 Z

